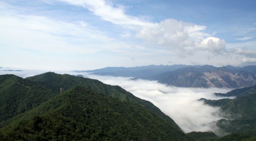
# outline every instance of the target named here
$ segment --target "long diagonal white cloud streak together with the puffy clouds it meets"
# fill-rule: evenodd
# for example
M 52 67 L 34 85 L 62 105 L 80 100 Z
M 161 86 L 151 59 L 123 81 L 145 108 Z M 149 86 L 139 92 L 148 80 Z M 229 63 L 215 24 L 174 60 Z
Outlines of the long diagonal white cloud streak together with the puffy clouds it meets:
M 226 52 L 225 41 L 219 38 L 210 37 L 210 34 L 203 32 L 206 26 L 165 19 L 159 23 L 147 22 L 140 17 L 125 14 L 124 6 L 114 7 L 104 0 L 60 0 L 71 5 L 83 6 L 101 19 L 113 24 L 130 27 L 136 30 L 136 36 L 150 44 L 167 47 L 178 52 L 179 55 L 193 54 L 196 50 L 207 50 L 211 53 Z M 206 38 L 206 39 L 205 39 Z M 204 40 L 205 39 L 205 40 Z M 217 40 L 219 39 L 219 40 Z M 206 44 L 200 44 L 207 41 Z M 199 43 L 198 43 L 199 42 Z M 199 45 L 197 47 L 197 45 Z

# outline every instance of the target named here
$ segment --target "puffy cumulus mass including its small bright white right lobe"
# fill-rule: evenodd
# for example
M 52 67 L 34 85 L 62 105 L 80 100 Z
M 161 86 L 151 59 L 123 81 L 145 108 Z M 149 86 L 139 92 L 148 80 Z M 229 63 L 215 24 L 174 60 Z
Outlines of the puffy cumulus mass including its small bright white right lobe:
M 196 50 L 206 50 L 214 54 L 225 53 L 226 42 L 224 39 L 205 38 L 209 36 L 203 32 L 205 28 L 205 26 L 166 19 L 157 24 L 156 27 L 142 27 L 137 36 L 182 54 Z

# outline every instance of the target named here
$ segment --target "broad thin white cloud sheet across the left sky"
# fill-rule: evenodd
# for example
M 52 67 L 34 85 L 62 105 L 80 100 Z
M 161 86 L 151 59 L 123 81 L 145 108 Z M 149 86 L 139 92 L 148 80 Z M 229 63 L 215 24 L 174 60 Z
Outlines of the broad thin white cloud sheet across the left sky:
M 5 3 L 4 3 L 5 4 Z M 91 54 L 101 50 L 145 50 L 141 45 L 110 38 L 84 21 L 67 22 L 46 16 L 19 14 L 5 4 L 0 7 L 0 43 L 7 48 L 36 50 L 42 53 Z M 129 33 L 126 35 L 129 36 Z

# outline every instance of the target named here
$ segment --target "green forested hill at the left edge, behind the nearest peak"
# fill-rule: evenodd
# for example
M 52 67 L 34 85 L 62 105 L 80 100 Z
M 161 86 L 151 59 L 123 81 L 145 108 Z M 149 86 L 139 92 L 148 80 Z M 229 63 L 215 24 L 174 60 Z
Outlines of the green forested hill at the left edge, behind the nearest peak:
M 0 127 L 13 116 L 24 113 L 55 96 L 39 83 L 16 75 L 0 75 Z

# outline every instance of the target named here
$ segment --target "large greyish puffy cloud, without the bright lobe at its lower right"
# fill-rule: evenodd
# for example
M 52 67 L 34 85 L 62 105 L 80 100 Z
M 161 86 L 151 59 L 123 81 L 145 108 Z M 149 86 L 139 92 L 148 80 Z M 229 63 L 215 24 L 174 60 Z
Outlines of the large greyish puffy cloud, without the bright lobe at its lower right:
M 183 50 L 202 39 L 205 33 L 201 31 L 205 28 L 175 19 L 166 19 L 155 27 L 141 27 L 137 37 L 174 50 Z

